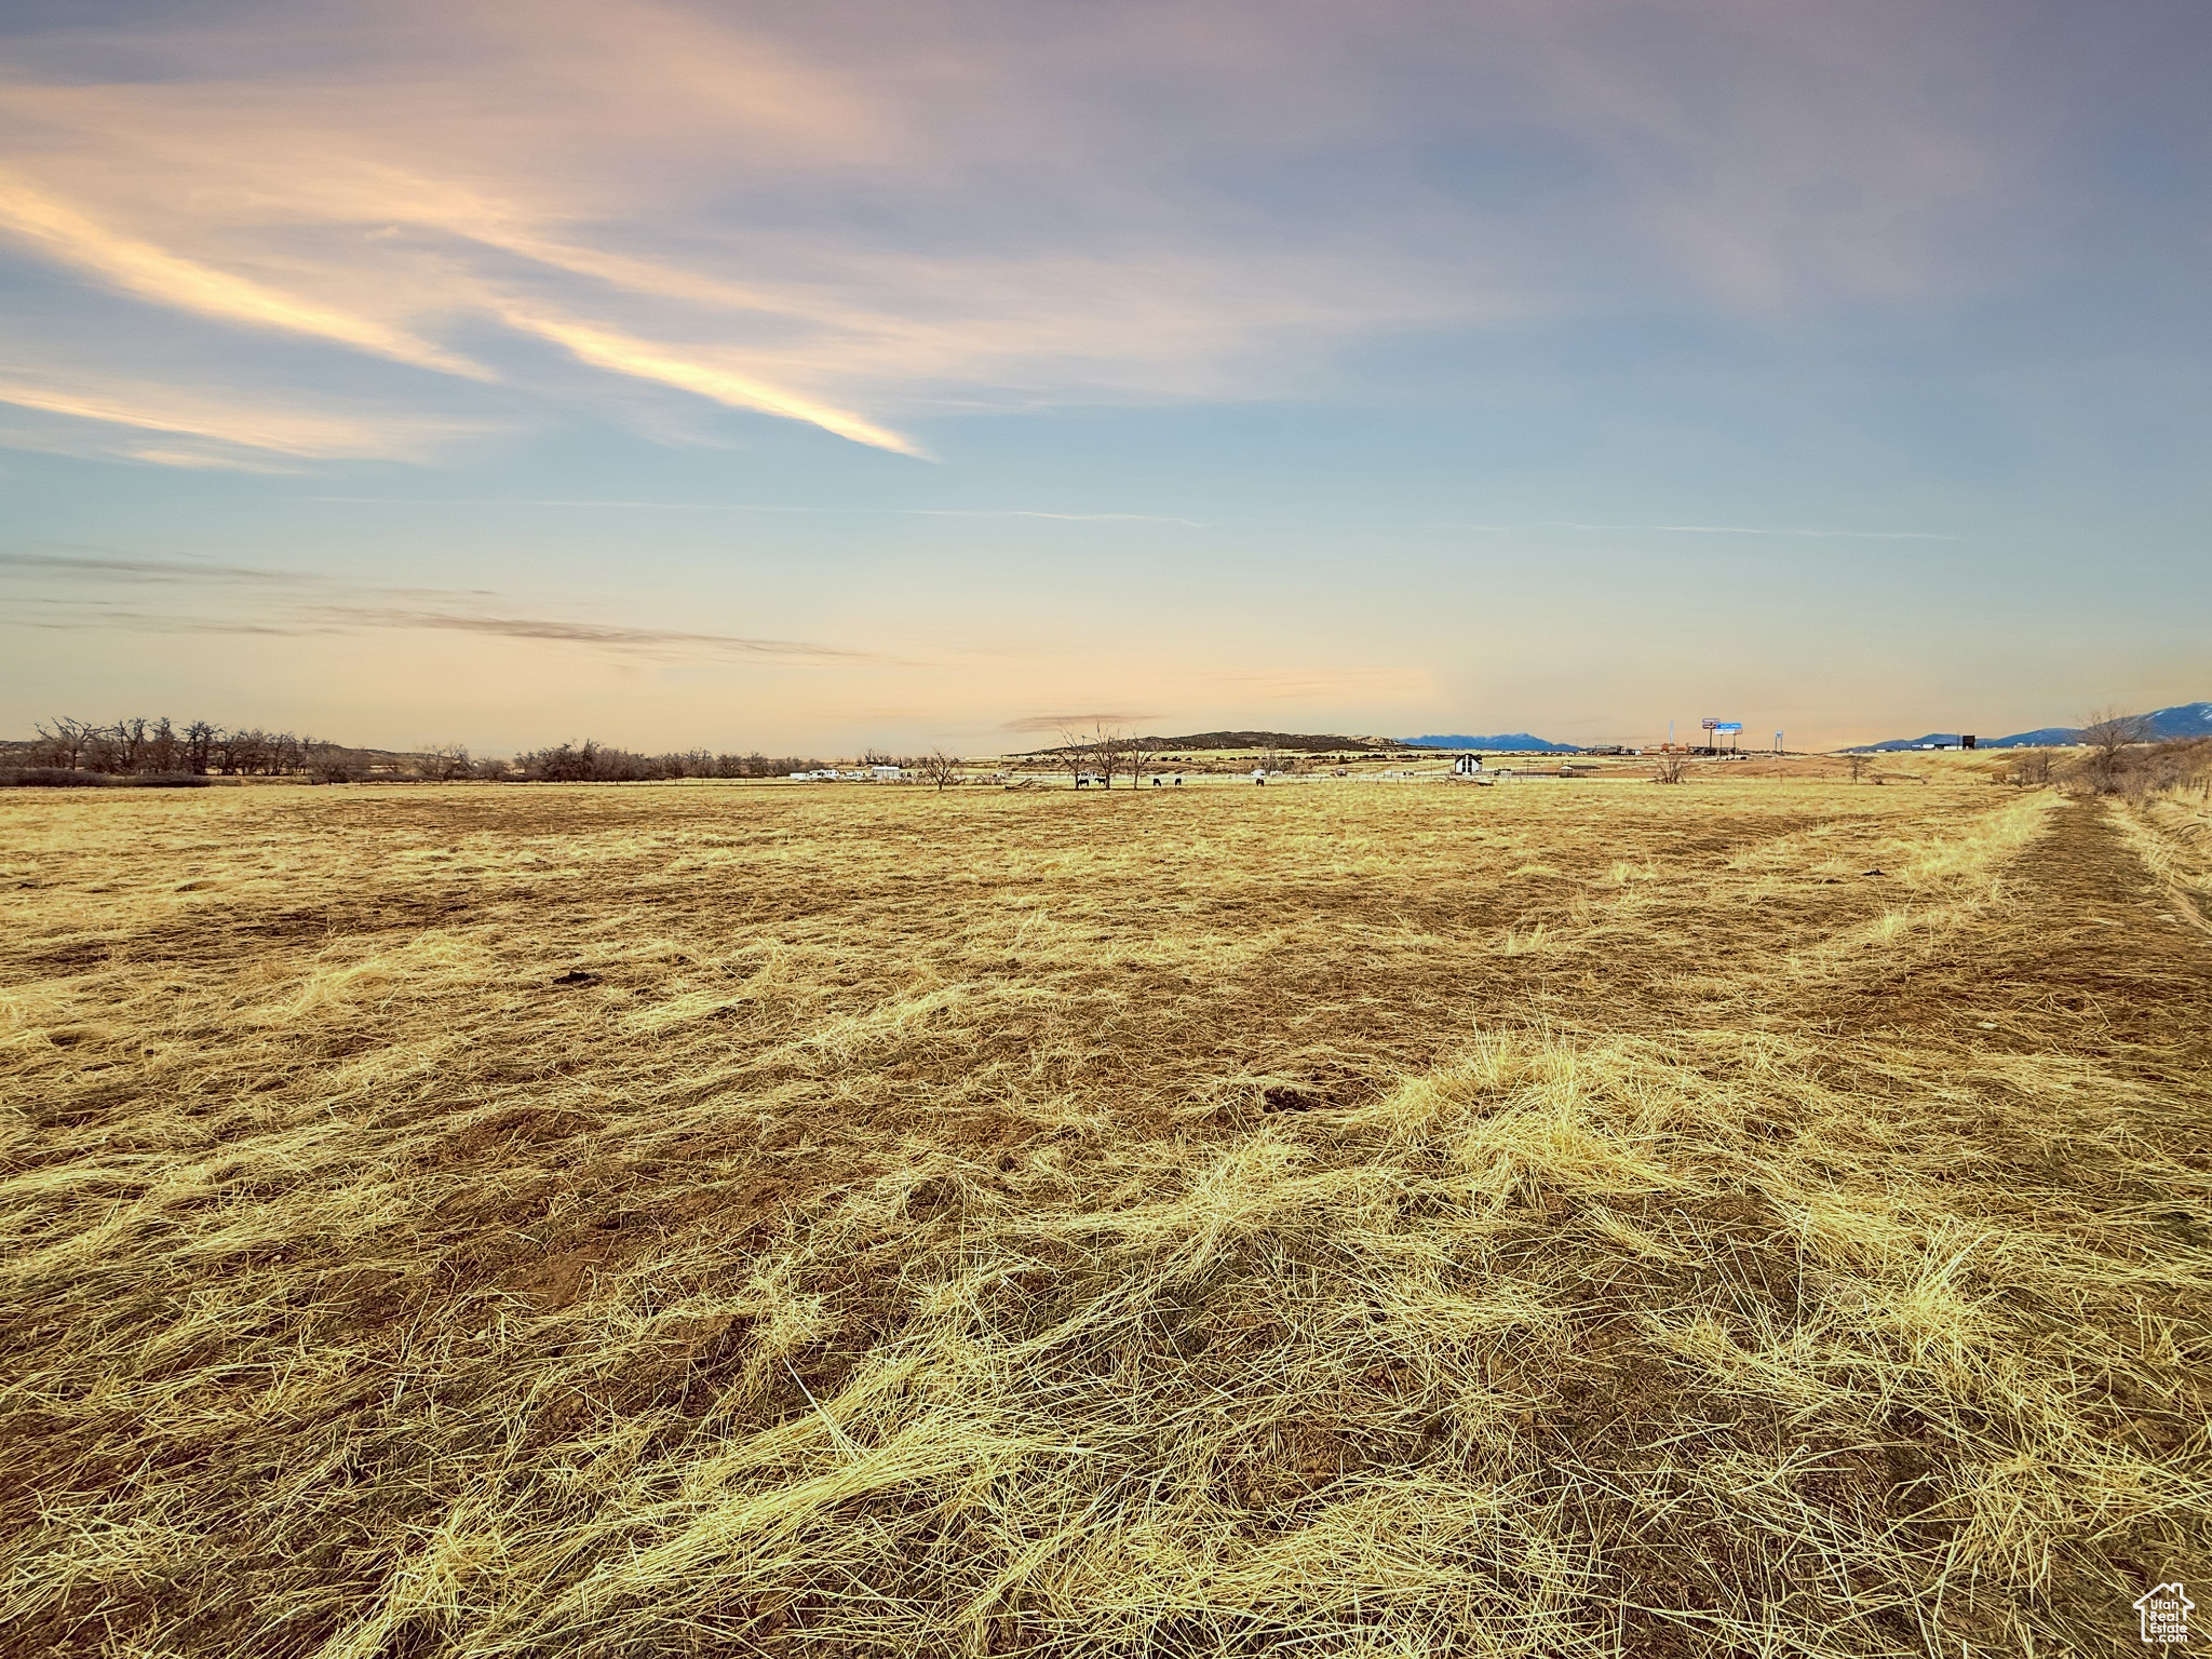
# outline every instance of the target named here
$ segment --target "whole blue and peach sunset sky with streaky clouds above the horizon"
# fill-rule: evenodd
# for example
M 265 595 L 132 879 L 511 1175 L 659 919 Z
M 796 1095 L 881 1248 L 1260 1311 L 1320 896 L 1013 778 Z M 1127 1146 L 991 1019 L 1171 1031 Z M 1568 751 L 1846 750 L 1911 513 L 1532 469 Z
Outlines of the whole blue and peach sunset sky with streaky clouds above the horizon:
M 2201 0 L 11 0 L 0 732 L 2212 697 Z

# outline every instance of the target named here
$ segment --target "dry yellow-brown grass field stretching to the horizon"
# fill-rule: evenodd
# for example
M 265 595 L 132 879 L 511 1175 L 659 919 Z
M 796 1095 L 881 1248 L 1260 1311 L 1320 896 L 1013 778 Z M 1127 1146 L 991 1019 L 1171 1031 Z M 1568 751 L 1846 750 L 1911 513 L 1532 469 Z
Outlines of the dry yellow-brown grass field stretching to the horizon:
M 7 1655 L 1971 1659 L 2212 1573 L 2201 799 L 24 790 L 0 896 Z

